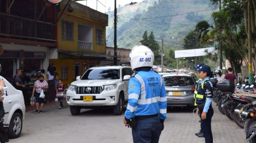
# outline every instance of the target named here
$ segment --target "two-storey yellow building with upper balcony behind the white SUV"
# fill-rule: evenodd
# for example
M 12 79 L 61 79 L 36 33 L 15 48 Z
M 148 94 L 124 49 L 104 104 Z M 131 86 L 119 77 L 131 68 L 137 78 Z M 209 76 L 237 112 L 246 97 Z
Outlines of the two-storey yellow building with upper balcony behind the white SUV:
M 108 15 L 72 1 L 62 14 L 67 3 L 57 5 L 57 49 L 49 49 L 49 65 L 56 67 L 66 85 L 100 60 L 111 58 L 105 42 Z

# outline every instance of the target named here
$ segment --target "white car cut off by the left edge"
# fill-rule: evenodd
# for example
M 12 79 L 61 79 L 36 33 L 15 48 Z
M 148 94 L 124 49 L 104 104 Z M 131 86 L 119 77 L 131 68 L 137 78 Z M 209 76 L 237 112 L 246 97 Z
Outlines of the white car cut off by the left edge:
M 18 138 L 22 130 L 22 121 L 25 119 L 25 102 L 22 91 L 16 90 L 5 78 L 7 88 L 6 97 L 3 100 L 6 116 L 4 124 L 9 124 L 10 131 L 7 132 L 9 138 Z

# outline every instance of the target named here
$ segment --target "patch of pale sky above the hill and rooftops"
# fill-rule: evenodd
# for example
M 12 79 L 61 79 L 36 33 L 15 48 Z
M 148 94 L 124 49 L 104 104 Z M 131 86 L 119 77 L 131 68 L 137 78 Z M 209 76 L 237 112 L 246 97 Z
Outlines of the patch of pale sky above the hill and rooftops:
M 142 2 L 143 0 L 116 0 L 116 7 L 118 5 L 126 5 L 130 4 L 131 2 Z M 77 1 L 80 4 L 87 5 L 92 9 L 98 10 L 102 13 L 105 13 L 105 5 L 106 4 L 106 12 L 108 12 L 109 7 L 111 7 L 111 11 L 114 10 L 115 1 L 114 0 L 98 0 L 98 6 L 97 6 L 97 0 L 84 0 L 84 1 Z M 106 2 L 106 3 L 105 3 Z M 100 4 L 102 3 L 102 4 Z M 96 8 L 97 7 L 97 8 Z

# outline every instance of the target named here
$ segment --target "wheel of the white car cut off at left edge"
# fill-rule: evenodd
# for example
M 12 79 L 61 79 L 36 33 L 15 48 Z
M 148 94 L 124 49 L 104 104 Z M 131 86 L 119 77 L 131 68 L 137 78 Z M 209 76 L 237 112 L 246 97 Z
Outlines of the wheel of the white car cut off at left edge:
M 7 132 L 9 138 L 18 138 L 22 130 L 22 118 L 19 113 L 14 113 Z

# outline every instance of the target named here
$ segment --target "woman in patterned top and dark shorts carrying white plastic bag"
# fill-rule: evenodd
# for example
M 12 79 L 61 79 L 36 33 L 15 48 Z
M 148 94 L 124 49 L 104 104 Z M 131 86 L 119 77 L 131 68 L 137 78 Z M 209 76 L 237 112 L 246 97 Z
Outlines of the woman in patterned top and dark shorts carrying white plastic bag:
M 43 76 L 41 75 L 39 79 L 35 82 L 34 88 L 33 88 L 33 94 L 32 97 L 36 97 L 36 111 L 35 114 L 37 113 L 43 113 L 43 103 L 44 103 L 44 91 L 48 89 L 48 83 L 47 81 L 43 80 Z M 39 109 L 39 104 L 40 104 L 40 110 Z

